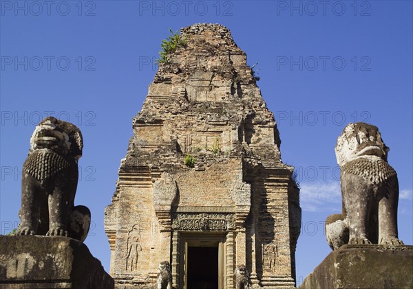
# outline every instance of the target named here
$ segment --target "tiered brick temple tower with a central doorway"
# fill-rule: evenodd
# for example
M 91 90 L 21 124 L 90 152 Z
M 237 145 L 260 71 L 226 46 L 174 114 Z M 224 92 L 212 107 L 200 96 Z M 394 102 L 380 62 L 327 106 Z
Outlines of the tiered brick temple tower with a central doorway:
M 181 30 L 160 63 L 105 211 L 116 288 L 295 286 L 301 209 L 274 116 L 246 54 L 222 25 Z

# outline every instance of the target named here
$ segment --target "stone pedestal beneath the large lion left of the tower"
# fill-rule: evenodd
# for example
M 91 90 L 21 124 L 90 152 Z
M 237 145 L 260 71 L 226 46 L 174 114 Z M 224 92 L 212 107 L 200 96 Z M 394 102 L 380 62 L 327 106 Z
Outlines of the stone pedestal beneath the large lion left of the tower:
M 65 237 L 0 236 L 0 288 L 114 288 L 85 244 Z

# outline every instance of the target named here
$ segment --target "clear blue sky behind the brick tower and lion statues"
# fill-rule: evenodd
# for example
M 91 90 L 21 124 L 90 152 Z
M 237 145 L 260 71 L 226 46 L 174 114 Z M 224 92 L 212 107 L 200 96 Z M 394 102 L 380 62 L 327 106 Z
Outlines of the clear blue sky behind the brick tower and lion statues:
M 47 115 L 83 132 L 75 203 L 109 270 L 104 208 L 153 80 L 168 28 L 221 23 L 258 62 L 282 159 L 301 183 L 297 281 L 330 252 L 324 220 L 341 211 L 335 142 L 348 122 L 379 127 L 399 174 L 399 235 L 412 232 L 412 1 L 1 1 L 0 233 L 19 222 L 21 165 Z M 150 64 L 149 64 L 150 63 Z

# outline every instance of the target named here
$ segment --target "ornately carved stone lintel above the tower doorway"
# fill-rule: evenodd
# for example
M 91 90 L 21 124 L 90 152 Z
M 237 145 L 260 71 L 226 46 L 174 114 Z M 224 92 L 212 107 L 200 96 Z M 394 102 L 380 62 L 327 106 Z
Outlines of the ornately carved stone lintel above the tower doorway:
M 232 213 L 177 213 L 172 228 L 180 231 L 229 231 L 235 229 Z

